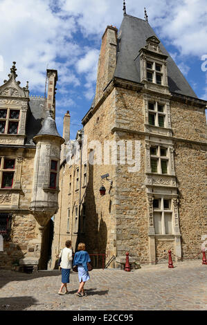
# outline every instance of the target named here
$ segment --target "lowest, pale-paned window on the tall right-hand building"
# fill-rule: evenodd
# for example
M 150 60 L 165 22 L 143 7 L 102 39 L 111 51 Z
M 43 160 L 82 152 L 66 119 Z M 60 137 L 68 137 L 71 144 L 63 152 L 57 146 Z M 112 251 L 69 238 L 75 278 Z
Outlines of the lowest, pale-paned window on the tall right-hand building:
M 173 234 L 172 200 L 169 198 L 154 198 L 153 216 L 155 234 Z

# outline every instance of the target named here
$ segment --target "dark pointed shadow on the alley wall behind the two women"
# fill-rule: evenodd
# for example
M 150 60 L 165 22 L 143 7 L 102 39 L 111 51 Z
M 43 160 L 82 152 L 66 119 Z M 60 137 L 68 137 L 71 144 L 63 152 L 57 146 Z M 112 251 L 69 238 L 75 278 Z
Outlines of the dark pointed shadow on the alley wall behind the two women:
M 91 151 L 90 155 L 93 155 Z M 93 159 L 93 158 L 90 158 Z M 90 160 L 91 161 L 91 160 Z M 94 189 L 93 189 L 93 165 L 89 164 L 89 178 L 85 188 L 84 199 L 81 205 L 78 238 L 75 245 L 84 242 L 89 254 L 106 254 L 107 248 L 107 225 L 103 219 L 102 212 L 98 216 Z M 93 268 L 102 268 L 102 257 L 92 257 Z

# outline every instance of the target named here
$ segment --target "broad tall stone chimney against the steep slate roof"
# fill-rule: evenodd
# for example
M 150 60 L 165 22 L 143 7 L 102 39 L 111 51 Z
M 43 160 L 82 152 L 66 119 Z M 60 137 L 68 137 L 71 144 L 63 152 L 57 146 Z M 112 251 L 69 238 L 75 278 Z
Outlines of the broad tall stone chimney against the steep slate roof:
M 102 44 L 98 61 L 95 105 L 104 93 L 104 89 L 111 81 L 116 68 L 116 46 L 118 29 L 107 26 L 102 36 Z

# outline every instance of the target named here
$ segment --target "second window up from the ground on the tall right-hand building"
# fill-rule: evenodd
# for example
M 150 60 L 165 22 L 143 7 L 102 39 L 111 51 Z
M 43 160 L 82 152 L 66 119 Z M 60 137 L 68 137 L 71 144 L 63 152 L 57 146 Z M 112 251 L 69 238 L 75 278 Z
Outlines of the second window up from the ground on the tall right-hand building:
M 151 172 L 157 174 L 169 174 L 168 148 L 155 145 L 150 147 Z

